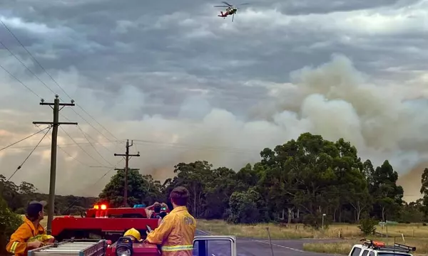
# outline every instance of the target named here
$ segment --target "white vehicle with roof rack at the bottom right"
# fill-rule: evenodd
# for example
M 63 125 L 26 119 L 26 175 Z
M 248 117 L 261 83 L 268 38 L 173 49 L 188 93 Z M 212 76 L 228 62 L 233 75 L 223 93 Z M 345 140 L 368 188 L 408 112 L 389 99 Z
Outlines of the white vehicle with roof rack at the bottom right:
M 408 245 L 385 245 L 384 242 L 362 239 L 362 245 L 354 245 L 349 256 L 413 256 L 416 247 Z

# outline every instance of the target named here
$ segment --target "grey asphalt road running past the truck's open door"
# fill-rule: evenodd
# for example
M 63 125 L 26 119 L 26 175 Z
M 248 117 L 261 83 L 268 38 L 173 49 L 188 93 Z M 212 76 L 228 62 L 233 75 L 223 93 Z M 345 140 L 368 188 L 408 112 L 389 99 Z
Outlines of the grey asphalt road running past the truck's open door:
M 209 235 L 202 230 L 198 230 L 196 235 Z M 275 256 L 330 256 L 325 253 L 305 252 L 303 243 L 305 242 L 334 242 L 337 240 L 272 240 L 272 249 Z M 230 247 L 228 242 L 210 242 L 208 243 L 209 256 L 230 256 Z M 268 240 L 237 238 L 236 250 L 238 256 L 270 256 L 272 251 Z M 198 255 L 193 252 L 193 255 Z

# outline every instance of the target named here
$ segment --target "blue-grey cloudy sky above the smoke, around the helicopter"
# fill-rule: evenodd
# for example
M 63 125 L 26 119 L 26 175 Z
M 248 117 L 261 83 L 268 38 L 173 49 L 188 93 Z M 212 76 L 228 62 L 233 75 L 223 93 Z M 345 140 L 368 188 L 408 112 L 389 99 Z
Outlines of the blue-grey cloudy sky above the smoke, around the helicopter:
M 394 10 L 417 1 L 250 2 L 257 15 L 241 11 L 235 23 L 216 17 L 218 9 L 212 6 L 217 1 L 190 0 L 1 1 L 0 15 L 16 25 L 16 36 L 46 68 L 75 67 L 88 78 L 81 86 L 100 92 L 134 86 L 148 97 L 146 114 L 175 116 L 192 88 L 206 90 L 213 105 L 242 112 L 267 92 L 265 87 L 247 87 L 245 81 L 287 82 L 290 71 L 319 65 L 332 53 L 349 55 L 367 73 L 390 65 L 423 65 L 424 58 L 412 58 L 412 51 L 424 46 L 420 33 L 402 31 L 403 38 L 376 32 L 352 35 L 337 30 L 340 17 L 326 16 L 320 24 L 302 16 Z M 21 24 L 11 18 L 21 18 Z M 25 54 L 4 28 L 0 35 L 16 53 Z

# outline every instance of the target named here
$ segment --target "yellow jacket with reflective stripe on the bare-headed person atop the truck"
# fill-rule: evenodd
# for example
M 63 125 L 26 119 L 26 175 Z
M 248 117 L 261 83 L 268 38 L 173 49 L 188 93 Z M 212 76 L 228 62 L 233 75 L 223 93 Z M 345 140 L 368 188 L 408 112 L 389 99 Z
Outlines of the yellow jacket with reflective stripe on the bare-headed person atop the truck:
M 163 218 L 161 225 L 148 233 L 146 241 L 161 245 L 162 256 L 193 256 L 196 220 L 185 206 L 179 206 Z

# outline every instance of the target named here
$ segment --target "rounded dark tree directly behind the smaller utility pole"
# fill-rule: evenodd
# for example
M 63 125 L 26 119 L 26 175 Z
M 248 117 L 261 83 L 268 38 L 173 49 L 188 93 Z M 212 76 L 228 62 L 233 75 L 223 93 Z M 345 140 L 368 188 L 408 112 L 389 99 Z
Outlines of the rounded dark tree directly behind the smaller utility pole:
M 100 201 L 106 201 L 109 207 L 123 206 L 125 171 L 118 171 L 99 195 Z M 128 170 L 128 200 L 130 206 L 141 203 L 148 195 L 148 181 L 137 170 Z

